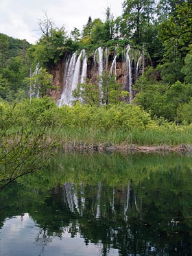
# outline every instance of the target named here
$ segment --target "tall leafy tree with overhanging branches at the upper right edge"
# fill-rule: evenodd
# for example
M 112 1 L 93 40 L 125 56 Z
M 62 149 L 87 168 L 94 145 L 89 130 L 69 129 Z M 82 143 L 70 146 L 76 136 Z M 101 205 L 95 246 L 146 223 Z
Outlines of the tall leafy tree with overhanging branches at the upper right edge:
M 162 78 L 166 82 L 183 81 L 181 69 L 192 43 L 191 32 L 192 3 L 176 5 L 174 14 L 169 14 L 169 18 L 160 24 L 159 38 L 165 47 Z

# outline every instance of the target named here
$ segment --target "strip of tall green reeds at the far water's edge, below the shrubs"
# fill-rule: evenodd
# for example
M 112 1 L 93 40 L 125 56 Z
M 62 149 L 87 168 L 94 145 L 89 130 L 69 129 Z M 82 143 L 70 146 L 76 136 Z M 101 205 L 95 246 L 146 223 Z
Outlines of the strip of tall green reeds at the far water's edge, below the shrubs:
M 97 128 L 55 128 L 49 130 L 49 136 L 61 145 L 67 143 L 112 143 L 139 146 L 179 146 L 192 145 L 192 127 L 182 128 L 147 128 L 122 130 L 111 128 L 108 130 Z

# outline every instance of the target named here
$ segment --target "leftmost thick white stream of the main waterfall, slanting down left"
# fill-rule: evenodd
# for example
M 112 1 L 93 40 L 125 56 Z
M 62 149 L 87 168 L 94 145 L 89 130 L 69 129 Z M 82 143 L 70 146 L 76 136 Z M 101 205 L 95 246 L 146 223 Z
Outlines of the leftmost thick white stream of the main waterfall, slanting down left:
M 58 100 L 58 106 L 62 106 L 63 104 L 69 104 L 72 95 L 72 82 L 73 75 L 75 71 L 75 62 L 76 62 L 76 54 L 74 53 L 69 62 L 69 68 L 67 70 L 67 78 L 64 84 L 64 90 L 62 91 L 62 95 L 60 100 Z

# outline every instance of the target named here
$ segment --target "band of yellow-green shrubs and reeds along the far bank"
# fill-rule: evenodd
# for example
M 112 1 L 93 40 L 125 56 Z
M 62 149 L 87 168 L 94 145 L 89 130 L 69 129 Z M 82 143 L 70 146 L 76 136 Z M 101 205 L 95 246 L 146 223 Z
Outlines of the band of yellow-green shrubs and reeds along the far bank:
M 2 105 L 2 106 L 1 106 Z M 58 108 L 48 98 L 14 107 L 1 104 L 1 123 L 28 131 L 45 130 L 47 142 L 58 146 L 80 147 L 107 145 L 187 146 L 192 145 L 192 125 L 176 126 L 153 120 L 139 106 L 119 104 L 96 108 L 80 106 Z M 159 125 L 160 124 L 160 125 Z M 45 128 L 45 129 L 44 129 Z

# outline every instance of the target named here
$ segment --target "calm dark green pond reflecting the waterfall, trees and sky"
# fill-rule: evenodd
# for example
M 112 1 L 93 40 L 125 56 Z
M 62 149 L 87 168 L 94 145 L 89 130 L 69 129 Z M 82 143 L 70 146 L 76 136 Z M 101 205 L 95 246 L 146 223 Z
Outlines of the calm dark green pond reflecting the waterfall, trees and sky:
M 192 255 L 192 156 L 60 154 L 0 203 L 0 255 Z

